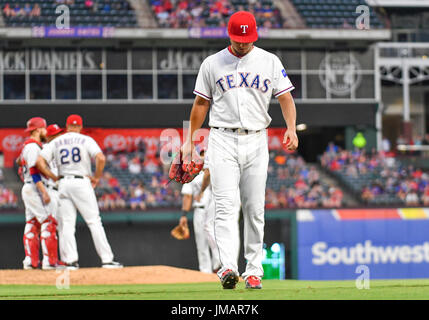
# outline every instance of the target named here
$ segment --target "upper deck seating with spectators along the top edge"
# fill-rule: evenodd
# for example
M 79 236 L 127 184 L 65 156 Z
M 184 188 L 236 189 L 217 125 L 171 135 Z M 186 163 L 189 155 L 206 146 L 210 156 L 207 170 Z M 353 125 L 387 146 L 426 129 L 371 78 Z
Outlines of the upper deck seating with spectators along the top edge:
M 225 27 L 239 10 L 252 12 L 260 27 L 355 28 L 365 0 L 0 0 L 7 27 L 55 26 L 66 5 L 70 25 L 110 27 Z M 385 28 L 384 18 L 370 10 L 371 28 Z

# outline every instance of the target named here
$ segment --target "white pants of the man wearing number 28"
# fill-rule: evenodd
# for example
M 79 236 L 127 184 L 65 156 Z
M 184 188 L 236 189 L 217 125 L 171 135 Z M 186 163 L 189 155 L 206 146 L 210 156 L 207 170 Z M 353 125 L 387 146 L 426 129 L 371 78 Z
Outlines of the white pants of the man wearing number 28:
M 97 198 L 88 178 L 65 177 L 59 183 L 60 214 L 62 220 L 62 256 L 66 263 L 78 261 L 76 246 L 76 216 L 79 210 L 91 232 L 95 249 L 102 261 L 113 261 L 113 253 L 101 223 Z

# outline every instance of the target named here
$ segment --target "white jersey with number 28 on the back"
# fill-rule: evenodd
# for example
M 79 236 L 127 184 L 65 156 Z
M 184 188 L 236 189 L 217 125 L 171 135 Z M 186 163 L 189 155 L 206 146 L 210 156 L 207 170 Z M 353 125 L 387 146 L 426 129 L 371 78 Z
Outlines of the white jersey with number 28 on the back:
M 48 163 L 53 161 L 56 164 L 61 176 L 90 176 L 91 159 L 101 152 L 93 138 L 68 132 L 48 143 L 41 155 Z

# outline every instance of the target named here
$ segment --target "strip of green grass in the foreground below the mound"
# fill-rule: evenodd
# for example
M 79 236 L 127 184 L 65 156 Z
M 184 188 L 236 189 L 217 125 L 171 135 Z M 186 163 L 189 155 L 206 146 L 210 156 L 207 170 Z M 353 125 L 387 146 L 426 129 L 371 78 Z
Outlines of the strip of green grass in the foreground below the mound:
M 59 290 L 55 286 L 0 285 L 0 299 L 113 299 L 113 300 L 310 300 L 310 299 L 429 299 L 429 279 L 372 280 L 358 290 L 354 281 L 265 280 L 262 290 L 235 290 L 219 283 L 162 285 L 81 285 Z

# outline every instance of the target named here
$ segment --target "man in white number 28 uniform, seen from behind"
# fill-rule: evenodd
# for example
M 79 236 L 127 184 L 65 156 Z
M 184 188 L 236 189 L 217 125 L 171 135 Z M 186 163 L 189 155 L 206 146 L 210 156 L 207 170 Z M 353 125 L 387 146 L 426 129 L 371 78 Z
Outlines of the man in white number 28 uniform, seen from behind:
M 37 160 L 40 171 L 54 181 L 59 180 L 62 239 L 64 257 L 69 269 L 77 269 L 78 253 L 75 238 L 76 214 L 79 210 L 89 227 L 95 249 L 103 268 L 122 268 L 113 260 L 113 252 L 101 223 L 94 188 L 102 176 L 105 156 L 94 139 L 81 134 L 83 122 L 79 115 L 70 115 L 66 122 L 67 132 L 45 146 Z M 91 159 L 96 169 L 92 176 Z M 59 176 L 53 174 L 48 163 L 54 161 Z

